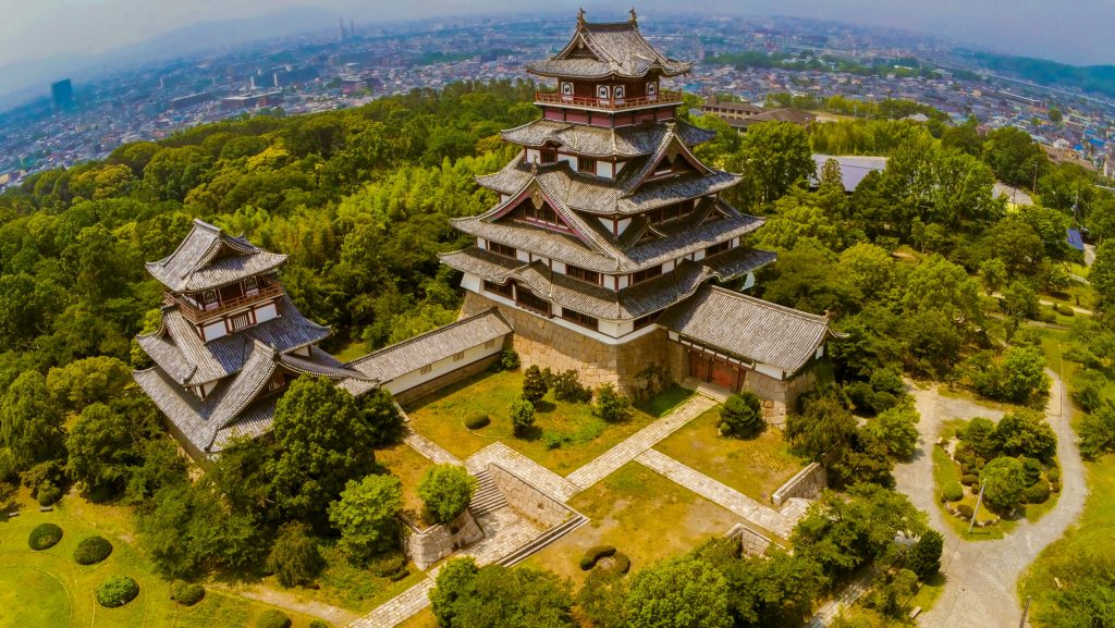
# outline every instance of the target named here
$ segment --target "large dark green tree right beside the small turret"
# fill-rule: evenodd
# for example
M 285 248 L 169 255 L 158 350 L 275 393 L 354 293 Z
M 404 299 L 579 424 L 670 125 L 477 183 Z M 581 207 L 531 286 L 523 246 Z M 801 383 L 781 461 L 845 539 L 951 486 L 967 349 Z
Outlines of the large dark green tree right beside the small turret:
M 376 464 L 376 429 L 355 397 L 326 378 L 299 377 L 279 399 L 270 464 L 275 501 L 290 516 L 324 523 L 323 505 Z

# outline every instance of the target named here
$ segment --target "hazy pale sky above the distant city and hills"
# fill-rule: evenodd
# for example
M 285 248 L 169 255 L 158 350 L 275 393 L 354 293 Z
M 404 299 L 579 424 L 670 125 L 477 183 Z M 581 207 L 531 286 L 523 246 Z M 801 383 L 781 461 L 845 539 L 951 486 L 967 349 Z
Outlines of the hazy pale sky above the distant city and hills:
M 614 15 L 629 1 L 576 0 L 0 0 L 0 67 L 56 55 L 97 54 L 197 22 L 251 18 L 292 7 L 342 13 L 357 22 L 476 12 L 568 10 L 580 4 Z M 709 13 L 793 16 L 891 26 L 962 44 L 1073 64 L 1115 64 L 1115 0 L 711 0 Z M 670 0 L 641 0 L 639 12 L 677 11 Z

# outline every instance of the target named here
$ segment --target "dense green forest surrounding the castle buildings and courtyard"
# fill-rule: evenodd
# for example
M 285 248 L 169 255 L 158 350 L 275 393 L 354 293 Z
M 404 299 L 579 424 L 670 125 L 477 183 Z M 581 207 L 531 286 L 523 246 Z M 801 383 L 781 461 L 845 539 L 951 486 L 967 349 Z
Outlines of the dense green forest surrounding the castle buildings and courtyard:
M 358 109 L 243 117 L 128 144 L 0 196 L 0 482 L 21 480 L 39 494 L 76 483 L 93 499 L 135 504 L 145 548 L 173 576 L 251 569 L 310 535 L 336 538 L 347 501 L 390 491 L 355 482 L 376 468 L 374 450 L 398 436 L 390 405 L 299 380 L 277 410 L 274 443 L 233 447 L 205 480 L 188 482 L 157 412 L 130 385 L 130 368 L 144 366 L 132 338 L 155 323 L 162 299 L 143 262 L 169 253 L 191 220 L 203 218 L 290 255 L 287 290 L 309 318 L 333 326 L 331 348 L 358 341 L 371 349 L 443 325 L 460 294 L 436 253 L 465 244 L 448 219 L 496 201 L 473 177 L 512 157 L 498 131 L 537 115 L 532 94 L 529 83 L 466 83 Z M 1068 271 L 1082 259 L 1065 230 L 1075 206 L 1079 224 L 1107 241 L 1115 201 L 1093 187 L 1093 174 L 1049 163 L 1022 132 L 982 136 L 973 120 L 896 119 L 911 110 L 918 107 L 894 103 L 869 119 L 808 132 L 772 123 L 744 136 L 681 114 L 721 131 L 698 156 L 743 173 L 729 200 L 767 216 L 754 244 L 776 250 L 779 261 L 763 270 L 757 294 L 828 312 L 841 335 L 828 385 L 792 416 L 787 436 L 808 456 L 832 456 L 832 482 L 849 492 L 827 496 L 825 506 L 845 511 L 846 521 L 834 525 L 814 512 L 795 532 L 802 551 L 794 557 L 747 561 L 712 544 L 639 574 L 630 590 L 597 581 L 576 600 L 545 574 L 520 574 L 521 590 L 537 595 L 507 605 L 556 605 L 552 625 L 566 626 L 575 603 L 590 625 L 610 626 L 627 612 L 617 603 L 644 607 L 669 596 L 671 579 L 691 577 L 736 591 L 708 602 L 730 624 L 709 625 L 795 625 L 816 593 L 853 568 L 894 564 L 895 532 L 924 531 L 904 499 L 880 489 L 893 485 L 894 461 L 912 451 L 917 413 L 902 374 L 1041 403 L 1045 358 L 1026 322 L 1053 316 L 1039 294 L 1112 311 L 1115 249 L 1099 249 L 1092 303 L 1090 289 Z M 890 161 L 849 194 L 835 163 L 815 172 L 812 152 Z M 1037 205 L 1008 207 L 992 196 L 996 180 L 1029 186 L 1035 172 Z M 1103 381 L 1115 360 L 1115 319 L 1075 326 L 1073 350 Z M 1096 402 L 1094 414 L 1115 416 L 1105 407 Z M 873 418 L 861 424 L 853 412 Z M 313 427 L 339 416 L 348 421 L 336 429 Z M 1086 438 L 1095 455 L 1115 447 L 1101 427 Z M 313 441 L 318 455 L 294 456 L 300 438 Z M 329 503 L 342 505 L 327 512 Z M 506 595 L 493 582 L 512 576 L 483 571 L 463 566 L 446 586 Z M 909 587 L 900 576 L 882 590 Z M 740 592 L 763 579 L 782 589 L 769 599 Z M 779 606 L 773 600 L 782 592 L 795 597 Z M 450 615 L 478 611 L 443 602 Z

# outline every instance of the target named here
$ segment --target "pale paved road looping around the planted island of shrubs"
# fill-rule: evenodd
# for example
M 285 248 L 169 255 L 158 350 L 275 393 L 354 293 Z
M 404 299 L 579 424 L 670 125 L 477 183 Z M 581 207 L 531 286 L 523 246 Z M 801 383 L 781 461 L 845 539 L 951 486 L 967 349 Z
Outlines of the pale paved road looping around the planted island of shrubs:
M 935 388 L 914 390 L 921 413 L 919 452 L 914 460 L 895 468 L 898 489 L 929 513 L 930 523 L 944 534 L 942 571 L 944 591 L 933 608 L 919 617 L 924 628 L 1014 628 L 1021 618 L 1018 599 L 1019 574 L 1049 543 L 1059 539 L 1084 510 L 1087 486 L 1084 464 L 1069 425 L 1072 404 L 1064 384 L 1053 371 L 1053 390 L 1046 416 L 1057 433 L 1057 457 L 1061 467 L 1061 494 L 1056 508 L 1036 524 L 1019 522 L 1015 531 L 998 541 L 961 541 L 946 524 L 937 506 L 933 489 L 931 447 L 941 423 L 951 418 L 986 416 L 999 418 L 1001 412 L 967 399 L 940 396 Z

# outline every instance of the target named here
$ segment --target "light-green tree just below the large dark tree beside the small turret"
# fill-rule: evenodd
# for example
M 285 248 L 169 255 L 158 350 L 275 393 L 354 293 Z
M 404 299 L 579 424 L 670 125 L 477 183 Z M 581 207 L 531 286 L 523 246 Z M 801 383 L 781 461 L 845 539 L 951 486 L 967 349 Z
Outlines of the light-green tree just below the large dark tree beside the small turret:
M 341 533 L 340 547 L 353 562 L 389 549 L 398 540 L 403 485 L 394 475 L 350 480 L 341 496 L 329 504 L 329 521 Z

